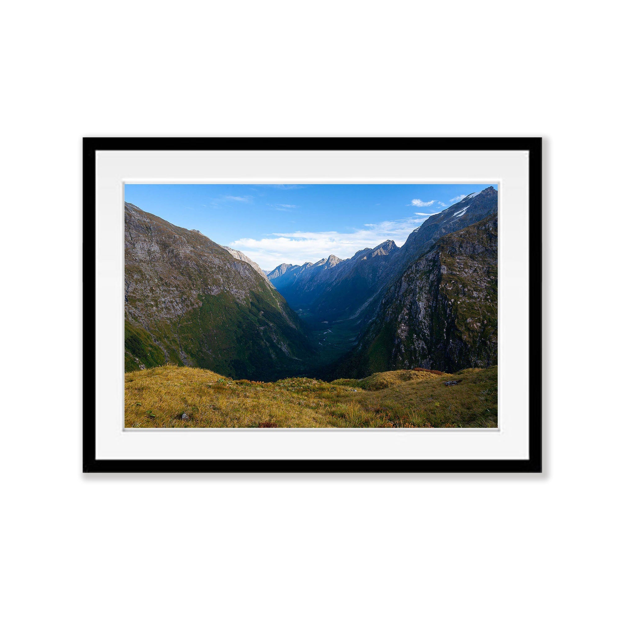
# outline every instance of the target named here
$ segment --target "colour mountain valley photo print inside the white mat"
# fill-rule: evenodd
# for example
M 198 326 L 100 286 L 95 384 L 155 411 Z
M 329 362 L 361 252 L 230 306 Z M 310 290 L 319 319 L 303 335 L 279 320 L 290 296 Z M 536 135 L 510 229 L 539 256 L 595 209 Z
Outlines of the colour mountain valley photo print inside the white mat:
M 496 428 L 498 190 L 126 183 L 125 428 Z

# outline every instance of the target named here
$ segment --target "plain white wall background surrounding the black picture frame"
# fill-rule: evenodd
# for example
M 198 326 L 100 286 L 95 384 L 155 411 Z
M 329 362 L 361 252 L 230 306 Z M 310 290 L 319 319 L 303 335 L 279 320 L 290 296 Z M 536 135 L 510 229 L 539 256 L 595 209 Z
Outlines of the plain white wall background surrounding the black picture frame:
M 4 618 L 619 614 L 613 7 L 4 6 Z M 545 474 L 81 474 L 83 135 L 543 135 Z

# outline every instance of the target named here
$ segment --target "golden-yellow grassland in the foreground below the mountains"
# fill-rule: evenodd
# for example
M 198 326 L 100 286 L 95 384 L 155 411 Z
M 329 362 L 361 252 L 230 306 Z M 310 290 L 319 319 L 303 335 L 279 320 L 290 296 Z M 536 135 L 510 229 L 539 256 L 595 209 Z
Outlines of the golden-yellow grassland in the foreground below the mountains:
M 125 427 L 497 427 L 497 386 L 496 366 L 262 383 L 166 365 L 125 373 Z

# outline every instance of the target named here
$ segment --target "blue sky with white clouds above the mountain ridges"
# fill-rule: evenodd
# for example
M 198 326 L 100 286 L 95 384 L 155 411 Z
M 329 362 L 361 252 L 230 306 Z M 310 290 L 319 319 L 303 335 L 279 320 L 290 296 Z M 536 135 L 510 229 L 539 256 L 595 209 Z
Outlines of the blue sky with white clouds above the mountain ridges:
M 401 246 L 430 215 L 490 185 L 125 184 L 125 201 L 273 270 L 346 259 L 387 239 Z

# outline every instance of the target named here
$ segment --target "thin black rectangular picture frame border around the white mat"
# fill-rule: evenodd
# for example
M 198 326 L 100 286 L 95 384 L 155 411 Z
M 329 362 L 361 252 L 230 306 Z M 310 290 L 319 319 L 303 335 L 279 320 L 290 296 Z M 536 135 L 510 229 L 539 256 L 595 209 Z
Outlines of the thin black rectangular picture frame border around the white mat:
M 529 404 L 524 460 L 101 460 L 95 427 L 95 186 L 101 150 L 520 150 L 529 152 Z M 84 473 L 541 473 L 542 138 L 83 138 Z

